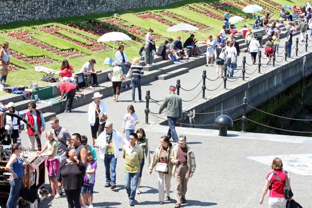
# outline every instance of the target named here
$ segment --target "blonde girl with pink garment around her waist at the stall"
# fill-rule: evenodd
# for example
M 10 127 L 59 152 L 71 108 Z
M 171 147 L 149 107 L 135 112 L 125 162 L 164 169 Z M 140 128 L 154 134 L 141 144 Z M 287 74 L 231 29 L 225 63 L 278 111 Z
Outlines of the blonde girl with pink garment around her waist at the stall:
M 58 160 L 58 154 L 57 154 L 57 149 L 58 145 L 57 142 L 53 139 L 53 133 L 51 131 L 47 131 L 45 133 L 45 136 L 47 138 L 47 142 L 45 143 L 42 151 L 37 152 L 39 156 L 44 156 L 48 157 L 45 160 L 45 166 L 47 167 L 48 170 L 48 175 L 49 175 L 49 180 L 51 184 L 51 195 L 54 196 L 54 198 L 60 198 L 61 196 L 58 194 L 58 185 L 57 185 L 57 180 L 56 180 L 56 175 L 57 175 L 57 170 L 59 167 L 59 160 Z M 48 149 L 49 151 L 46 153 L 43 153 Z M 56 194 L 55 194 L 55 189 L 56 189 Z

